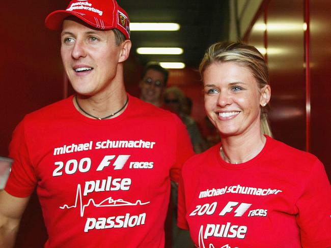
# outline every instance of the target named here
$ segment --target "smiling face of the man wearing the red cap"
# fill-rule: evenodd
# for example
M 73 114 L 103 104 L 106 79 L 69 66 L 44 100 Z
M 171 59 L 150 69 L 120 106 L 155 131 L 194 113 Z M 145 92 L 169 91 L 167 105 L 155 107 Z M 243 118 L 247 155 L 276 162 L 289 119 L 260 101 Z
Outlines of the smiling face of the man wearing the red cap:
M 124 43 L 116 45 L 112 30 L 101 31 L 64 20 L 61 56 L 68 78 L 78 94 L 95 96 L 111 90 Z

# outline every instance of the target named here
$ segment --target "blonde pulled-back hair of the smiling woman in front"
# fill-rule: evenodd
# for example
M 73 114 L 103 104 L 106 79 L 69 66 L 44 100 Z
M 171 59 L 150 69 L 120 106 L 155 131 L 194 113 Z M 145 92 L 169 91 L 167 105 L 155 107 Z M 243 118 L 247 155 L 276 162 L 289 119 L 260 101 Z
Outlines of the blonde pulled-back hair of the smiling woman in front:
M 263 55 L 254 46 L 242 42 L 217 42 L 211 45 L 200 63 L 201 78 L 206 68 L 213 63 L 235 62 L 249 69 L 258 86 L 269 84 L 269 72 Z M 261 107 L 261 132 L 272 136 L 266 107 Z

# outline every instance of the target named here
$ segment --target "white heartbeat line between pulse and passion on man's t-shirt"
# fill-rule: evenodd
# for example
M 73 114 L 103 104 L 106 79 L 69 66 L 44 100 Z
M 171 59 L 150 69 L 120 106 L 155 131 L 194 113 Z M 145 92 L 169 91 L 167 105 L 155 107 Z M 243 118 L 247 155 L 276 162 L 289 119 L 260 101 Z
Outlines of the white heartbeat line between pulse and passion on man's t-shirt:
M 80 184 L 77 185 L 77 192 L 76 192 L 76 199 L 75 199 L 75 204 L 73 206 L 68 206 L 67 204 L 60 206 L 61 209 L 69 209 L 69 208 L 76 208 L 79 200 L 79 207 L 80 207 L 80 217 L 84 216 L 84 211 L 85 208 L 90 206 L 91 203 L 95 207 L 119 207 L 119 206 L 136 206 L 136 205 L 146 205 L 149 204 L 150 202 L 144 202 L 142 203 L 141 200 L 137 200 L 135 203 L 131 203 L 128 201 L 124 201 L 123 199 L 118 199 L 118 200 L 113 200 L 112 197 L 108 197 L 101 201 L 100 203 L 96 204 L 93 199 L 89 199 L 88 203 L 83 205 L 82 204 L 82 198 L 81 198 L 81 189 L 80 189 Z M 105 204 L 108 203 L 108 204 Z

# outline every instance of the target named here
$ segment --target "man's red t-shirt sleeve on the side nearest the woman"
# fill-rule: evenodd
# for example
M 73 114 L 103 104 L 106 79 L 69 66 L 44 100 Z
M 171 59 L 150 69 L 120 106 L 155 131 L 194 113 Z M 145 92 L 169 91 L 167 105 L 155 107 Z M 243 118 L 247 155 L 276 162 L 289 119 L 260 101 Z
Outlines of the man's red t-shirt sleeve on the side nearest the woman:
M 183 164 L 188 158 L 194 155 L 194 151 L 185 125 L 177 116 L 174 117 L 177 130 L 175 151 L 176 154 L 174 166 L 170 170 L 170 178 L 171 180 L 178 182 Z

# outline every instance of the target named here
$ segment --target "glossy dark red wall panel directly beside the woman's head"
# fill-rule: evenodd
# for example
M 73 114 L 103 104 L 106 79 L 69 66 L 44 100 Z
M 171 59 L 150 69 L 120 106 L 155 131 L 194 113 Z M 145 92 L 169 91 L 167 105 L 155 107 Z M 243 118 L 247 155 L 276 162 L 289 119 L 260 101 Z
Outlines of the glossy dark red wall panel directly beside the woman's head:
M 273 135 L 306 149 L 306 79 L 302 1 L 271 0 L 267 9 Z

